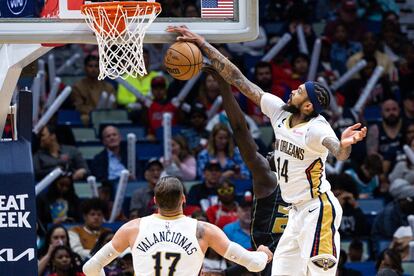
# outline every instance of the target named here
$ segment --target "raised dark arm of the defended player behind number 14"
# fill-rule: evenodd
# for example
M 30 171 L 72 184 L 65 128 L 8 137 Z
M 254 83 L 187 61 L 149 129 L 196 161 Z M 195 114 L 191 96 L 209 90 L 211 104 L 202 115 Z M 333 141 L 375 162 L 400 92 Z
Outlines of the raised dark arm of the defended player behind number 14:
M 271 171 L 269 162 L 257 152 L 257 145 L 247 128 L 244 113 L 234 98 L 230 85 L 211 67 L 204 67 L 217 80 L 220 86 L 220 94 L 223 98 L 223 107 L 226 111 L 234 139 L 239 147 L 244 163 L 253 175 L 253 192 L 256 197 L 262 198 L 273 192 L 277 186 L 276 175 Z

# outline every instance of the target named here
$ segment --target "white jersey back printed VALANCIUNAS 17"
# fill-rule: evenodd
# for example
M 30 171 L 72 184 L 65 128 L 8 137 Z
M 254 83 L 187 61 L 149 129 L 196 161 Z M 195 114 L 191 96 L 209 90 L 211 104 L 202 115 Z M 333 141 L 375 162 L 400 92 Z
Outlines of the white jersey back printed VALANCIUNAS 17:
M 136 276 L 194 276 L 204 260 L 197 236 L 197 220 L 180 215 L 143 217 L 131 249 Z

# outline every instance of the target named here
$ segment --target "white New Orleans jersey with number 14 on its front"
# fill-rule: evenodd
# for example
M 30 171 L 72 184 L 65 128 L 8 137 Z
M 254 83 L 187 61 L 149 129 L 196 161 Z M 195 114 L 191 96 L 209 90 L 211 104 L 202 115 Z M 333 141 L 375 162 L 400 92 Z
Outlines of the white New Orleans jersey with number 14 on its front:
M 292 114 L 282 109 L 284 104 L 270 93 L 265 93 L 260 103 L 275 132 L 274 156 L 282 198 L 287 203 L 298 204 L 331 189 L 325 178 L 328 149 L 322 141 L 327 137 L 338 138 L 321 115 L 289 127 Z

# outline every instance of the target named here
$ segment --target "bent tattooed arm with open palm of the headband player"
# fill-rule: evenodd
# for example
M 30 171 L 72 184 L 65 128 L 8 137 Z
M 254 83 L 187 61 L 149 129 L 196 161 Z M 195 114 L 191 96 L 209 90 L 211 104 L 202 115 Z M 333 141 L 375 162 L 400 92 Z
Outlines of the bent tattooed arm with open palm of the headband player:
M 361 127 L 361 123 L 357 123 L 348 127 L 342 132 L 341 141 L 333 138 L 325 138 L 322 141 L 324 145 L 338 160 L 346 160 L 351 154 L 351 146 L 358 143 L 367 135 L 367 128 Z

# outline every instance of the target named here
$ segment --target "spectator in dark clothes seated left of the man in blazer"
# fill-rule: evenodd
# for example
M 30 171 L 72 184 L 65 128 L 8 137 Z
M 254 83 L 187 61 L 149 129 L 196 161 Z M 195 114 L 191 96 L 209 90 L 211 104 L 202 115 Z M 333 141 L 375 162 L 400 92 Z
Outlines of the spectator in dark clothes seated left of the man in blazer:
M 81 180 L 88 174 L 88 165 L 81 153 L 72 146 L 60 145 L 56 128 L 47 125 L 40 131 L 40 149 L 33 156 L 37 180 L 41 180 L 56 167 L 72 173 L 73 180 Z

